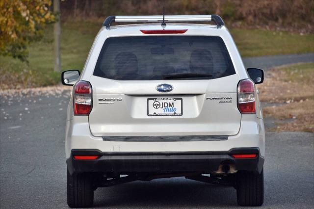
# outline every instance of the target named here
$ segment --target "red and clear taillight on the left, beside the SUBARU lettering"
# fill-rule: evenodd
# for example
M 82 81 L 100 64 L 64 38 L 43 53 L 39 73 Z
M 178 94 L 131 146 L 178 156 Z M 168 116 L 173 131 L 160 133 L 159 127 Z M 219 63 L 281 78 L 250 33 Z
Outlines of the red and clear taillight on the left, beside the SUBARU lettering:
M 92 86 L 88 81 L 80 80 L 75 84 L 74 115 L 89 115 L 92 110 Z

